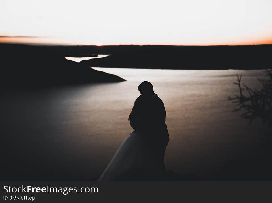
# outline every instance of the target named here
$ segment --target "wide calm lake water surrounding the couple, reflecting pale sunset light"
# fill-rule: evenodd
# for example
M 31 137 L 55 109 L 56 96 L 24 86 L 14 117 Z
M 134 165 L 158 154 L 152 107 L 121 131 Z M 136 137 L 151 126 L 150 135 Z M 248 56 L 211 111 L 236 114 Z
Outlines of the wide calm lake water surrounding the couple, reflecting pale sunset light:
M 231 112 L 236 74 L 258 87 L 262 70 L 149 70 L 95 68 L 126 82 L 59 87 L 7 95 L 4 143 L 11 180 L 87 180 L 99 176 L 133 131 L 128 115 L 147 80 L 166 108 L 170 142 L 165 165 L 176 173 L 209 176 L 259 147 L 268 132 Z M 10 160 L 14 162 L 11 163 Z M 19 165 L 18 165 L 19 164 Z M 18 167 L 19 166 L 19 167 Z M 12 174 L 12 175 L 11 175 Z M 16 175 L 15 175 L 16 174 Z M 12 177 L 12 178 L 10 178 Z M 22 178 L 23 177 L 23 178 Z

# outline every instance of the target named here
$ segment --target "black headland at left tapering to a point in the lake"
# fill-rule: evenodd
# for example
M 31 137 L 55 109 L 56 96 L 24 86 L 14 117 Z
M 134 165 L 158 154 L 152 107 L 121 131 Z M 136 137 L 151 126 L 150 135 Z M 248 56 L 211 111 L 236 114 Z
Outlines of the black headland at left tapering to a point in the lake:
M 0 50 L 4 89 L 125 81 L 117 75 L 66 60 L 62 53 L 43 46 L 0 44 Z

